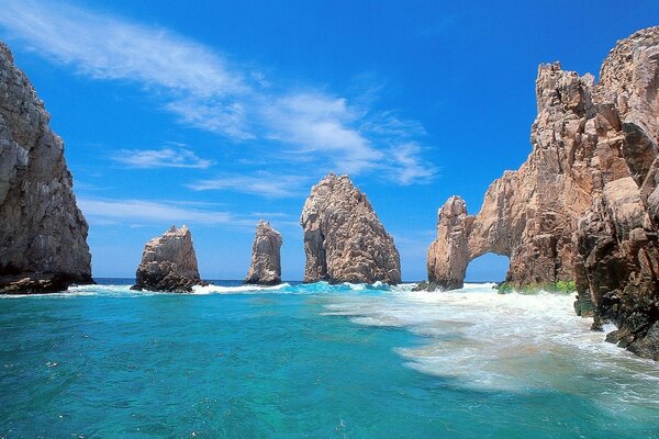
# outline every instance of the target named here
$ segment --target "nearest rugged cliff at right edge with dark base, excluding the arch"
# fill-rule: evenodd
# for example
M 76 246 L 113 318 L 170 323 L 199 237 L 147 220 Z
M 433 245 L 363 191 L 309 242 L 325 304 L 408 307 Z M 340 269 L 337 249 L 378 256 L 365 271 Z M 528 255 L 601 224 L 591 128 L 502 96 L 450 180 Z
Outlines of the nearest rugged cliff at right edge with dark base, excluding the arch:
M 589 304 L 595 328 L 618 327 L 608 340 L 659 360 L 659 27 L 618 42 L 600 77 L 593 202 L 574 236 L 576 308 Z

